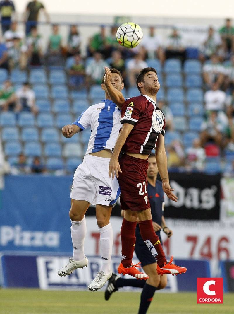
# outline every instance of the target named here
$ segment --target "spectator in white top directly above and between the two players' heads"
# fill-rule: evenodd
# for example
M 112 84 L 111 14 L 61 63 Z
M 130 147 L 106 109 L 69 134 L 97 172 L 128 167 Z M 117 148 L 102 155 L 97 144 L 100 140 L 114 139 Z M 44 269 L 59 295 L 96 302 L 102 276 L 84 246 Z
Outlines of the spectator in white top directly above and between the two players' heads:
M 136 77 L 142 69 L 147 68 L 147 63 L 142 59 L 139 53 L 127 63 L 127 74 L 130 86 L 136 86 Z

